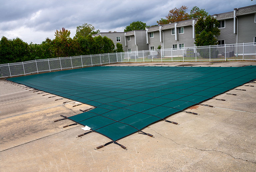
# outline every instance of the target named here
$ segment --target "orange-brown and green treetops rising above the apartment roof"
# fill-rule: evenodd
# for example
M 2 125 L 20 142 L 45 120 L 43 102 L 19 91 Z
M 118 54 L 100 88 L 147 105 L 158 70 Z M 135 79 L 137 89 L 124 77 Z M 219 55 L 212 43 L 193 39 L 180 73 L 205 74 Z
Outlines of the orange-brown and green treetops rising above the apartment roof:
M 171 9 L 165 18 L 161 18 L 159 21 L 157 21 L 158 25 L 168 24 L 168 23 L 174 23 L 177 21 L 183 21 L 188 20 L 192 18 L 198 18 L 198 17 L 205 17 L 208 15 L 208 13 L 204 9 L 199 9 L 197 6 L 194 6 L 190 14 L 188 14 L 187 6 L 181 6 L 180 8 L 174 8 Z

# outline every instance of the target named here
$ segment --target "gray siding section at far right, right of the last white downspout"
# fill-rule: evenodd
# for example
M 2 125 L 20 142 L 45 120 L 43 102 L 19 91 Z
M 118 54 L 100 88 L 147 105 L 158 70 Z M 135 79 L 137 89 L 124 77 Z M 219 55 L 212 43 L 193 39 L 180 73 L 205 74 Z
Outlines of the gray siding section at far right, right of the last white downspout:
M 238 43 L 253 42 L 253 38 L 256 37 L 256 23 L 255 13 L 247 14 L 243 16 L 237 16 L 238 18 Z

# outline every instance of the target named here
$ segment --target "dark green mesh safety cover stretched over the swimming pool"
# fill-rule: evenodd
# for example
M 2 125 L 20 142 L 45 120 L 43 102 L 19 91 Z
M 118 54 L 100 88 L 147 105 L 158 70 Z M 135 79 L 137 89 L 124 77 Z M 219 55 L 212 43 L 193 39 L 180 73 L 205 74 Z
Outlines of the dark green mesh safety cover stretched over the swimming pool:
M 97 108 L 68 119 L 119 140 L 256 78 L 256 66 L 97 66 L 9 78 Z

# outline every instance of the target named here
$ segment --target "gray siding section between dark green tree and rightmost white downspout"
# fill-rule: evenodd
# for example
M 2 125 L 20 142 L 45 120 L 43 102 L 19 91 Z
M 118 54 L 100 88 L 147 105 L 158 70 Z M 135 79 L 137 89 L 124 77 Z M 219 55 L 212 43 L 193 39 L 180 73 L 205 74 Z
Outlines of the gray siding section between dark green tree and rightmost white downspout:
M 236 34 L 234 34 L 234 19 L 227 19 L 225 21 L 225 28 L 219 28 L 219 29 L 220 29 L 220 35 L 217 36 L 218 40 L 225 40 L 225 44 L 236 43 Z

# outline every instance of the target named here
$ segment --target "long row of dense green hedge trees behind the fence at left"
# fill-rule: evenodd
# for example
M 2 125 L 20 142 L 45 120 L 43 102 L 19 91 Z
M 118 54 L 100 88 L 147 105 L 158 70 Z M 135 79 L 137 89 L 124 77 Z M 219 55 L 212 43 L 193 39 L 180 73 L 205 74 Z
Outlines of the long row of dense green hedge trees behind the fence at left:
M 92 32 L 91 32 L 92 33 Z M 41 44 L 27 44 L 20 38 L 0 40 L 0 64 L 47 59 L 56 57 L 70 57 L 99 53 L 113 53 L 115 44 L 107 37 L 70 38 L 70 31 L 62 28 L 56 30 L 53 40 L 46 38 Z

